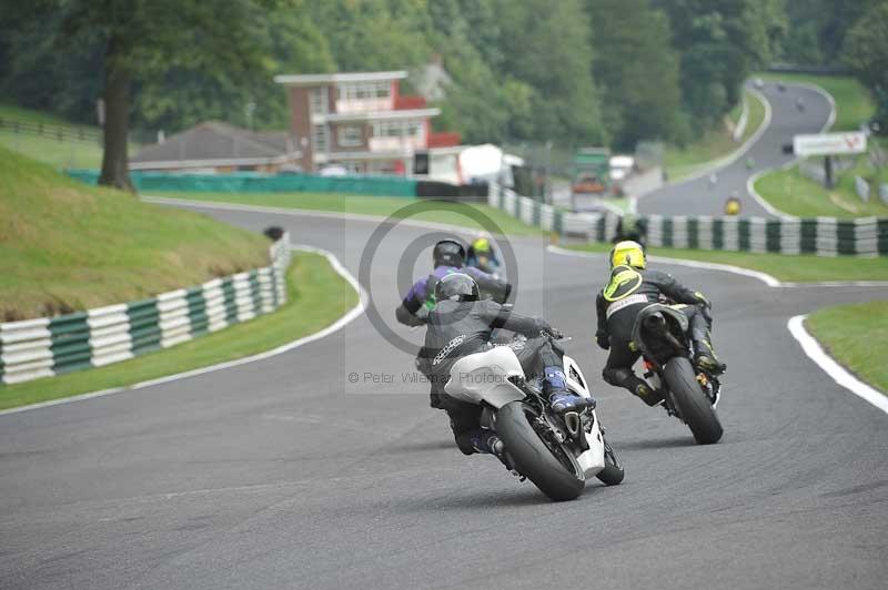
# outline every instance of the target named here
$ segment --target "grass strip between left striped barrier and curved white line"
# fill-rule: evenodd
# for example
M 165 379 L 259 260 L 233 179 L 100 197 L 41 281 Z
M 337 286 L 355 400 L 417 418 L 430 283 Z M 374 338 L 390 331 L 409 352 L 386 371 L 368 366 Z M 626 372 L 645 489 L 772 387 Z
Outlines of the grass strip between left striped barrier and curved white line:
M 131 360 L 18 385 L 0 385 L 0 409 L 37 404 L 262 353 L 322 329 L 357 303 L 357 294 L 320 254 L 293 253 L 287 302 L 279 311 Z

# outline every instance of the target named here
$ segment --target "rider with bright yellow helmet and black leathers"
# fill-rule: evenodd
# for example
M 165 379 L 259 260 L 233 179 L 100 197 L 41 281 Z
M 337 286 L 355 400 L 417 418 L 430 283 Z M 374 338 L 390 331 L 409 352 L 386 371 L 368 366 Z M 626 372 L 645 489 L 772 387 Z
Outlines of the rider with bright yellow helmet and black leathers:
M 714 374 L 724 373 L 726 367 L 718 362 L 713 349 L 712 305 L 706 297 L 685 287 L 670 274 L 646 269 L 646 266 L 644 248 L 636 242 L 619 242 L 610 251 L 610 281 L 595 302 L 598 313 L 595 336 L 598 346 L 610 349 L 602 372 L 604 380 L 625 387 L 648 406 L 655 406 L 662 398 L 632 370 L 640 353 L 629 344 L 635 317 L 647 305 L 657 303 L 660 295 L 676 302 L 674 307 L 688 318 L 695 365 Z

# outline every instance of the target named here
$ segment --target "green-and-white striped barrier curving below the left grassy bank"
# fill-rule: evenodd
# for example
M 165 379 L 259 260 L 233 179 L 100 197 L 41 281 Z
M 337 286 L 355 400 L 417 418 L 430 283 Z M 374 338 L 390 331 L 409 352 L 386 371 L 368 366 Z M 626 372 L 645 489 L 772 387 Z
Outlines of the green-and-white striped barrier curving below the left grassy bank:
M 16 384 L 127 360 L 273 312 L 286 302 L 290 235 L 272 264 L 150 299 L 0 324 L 0 382 Z

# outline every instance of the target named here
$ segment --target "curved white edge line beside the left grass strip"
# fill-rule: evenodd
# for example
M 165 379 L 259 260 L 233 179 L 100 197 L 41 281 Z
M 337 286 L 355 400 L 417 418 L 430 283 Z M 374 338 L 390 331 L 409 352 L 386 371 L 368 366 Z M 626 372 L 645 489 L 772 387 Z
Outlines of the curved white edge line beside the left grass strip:
M 352 307 L 349 312 L 346 312 L 343 316 L 341 316 L 339 319 L 336 319 L 333 324 L 329 325 L 327 327 L 325 327 L 325 328 L 323 328 L 323 329 L 321 329 L 319 332 L 315 332 L 314 334 L 309 334 L 307 336 L 303 336 L 303 337 L 297 338 L 297 339 L 295 339 L 293 342 L 290 342 L 287 344 L 283 344 L 281 346 L 278 346 L 276 348 L 272 348 L 271 350 L 265 350 L 264 353 L 259 353 L 259 354 L 255 354 L 255 355 L 245 356 L 245 357 L 242 357 L 242 358 L 236 358 L 234 360 L 226 360 L 224 363 L 218 363 L 215 365 L 210 365 L 210 366 L 206 366 L 206 367 L 201 367 L 201 368 L 196 368 L 196 369 L 192 369 L 192 370 L 185 370 L 183 373 L 176 373 L 174 375 L 167 375 L 165 377 L 158 377 L 155 379 L 149 379 L 149 380 L 145 380 L 145 382 L 135 383 L 133 385 L 127 385 L 127 386 L 122 386 L 122 387 L 114 387 L 114 388 L 111 388 L 111 389 L 101 389 L 99 391 L 91 391 L 89 394 L 80 394 L 80 395 L 77 395 L 77 396 L 63 397 L 63 398 L 60 398 L 60 399 L 52 399 L 52 400 L 49 400 L 49 401 L 41 401 L 39 404 L 30 404 L 28 406 L 20 406 L 20 407 L 17 407 L 17 408 L 9 408 L 9 409 L 0 410 L 0 416 L 6 416 L 6 415 L 9 415 L 9 414 L 18 414 L 18 413 L 21 413 L 21 411 L 29 411 L 29 410 L 32 410 L 32 409 L 40 409 L 40 408 L 46 408 L 46 407 L 50 407 L 50 406 L 59 406 L 59 405 L 62 405 L 62 404 L 71 404 L 71 403 L 74 403 L 74 401 L 82 401 L 84 399 L 93 399 L 93 398 L 97 398 L 97 397 L 104 397 L 104 396 L 110 396 L 110 395 L 114 395 L 114 394 L 122 394 L 124 391 L 132 391 L 132 390 L 135 390 L 135 389 L 143 389 L 145 387 L 151 387 L 151 386 L 154 386 L 154 385 L 161 385 L 161 384 L 164 384 L 164 383 L 174 382 L 174 380 L 179 380 L 179 379 L 184 379 L 184 378 L 188 378 L 188 377 L 194 377 L 196 375 L 203 375 L 205 373 L 212 373 L 212 372 L 220 370 L 220 369 L 236 367 L 236 366 L 240 366 L 240 365 L 245 365 L 248 363 L 254 363 L 256 360 L 264 360 L 266 358 L 271 358 L 273 356 L 278 356 L 280 354 L 283 354 L 283 353 L 286 353 L 289 350 L 292 350 L 294 348 L 299 348 L 300 346 L 303 346 L 305 344 L 310 344 L 310 343 L 313 343 L 315 340 L 320 340 L 321 338 L 324 338 L 325 336 L 329 336 L 329 335 L 333 334 L 334 332 L 337 332 L 337 330 L 342 329 L 349 323 L 351 323 L 354 318 L 359 317 L 361 314 L 364 313 L 364 308 L 366 307 L 366 302 L 367 302 L 367 293 L 364 289 L 364 287 L 361 286 L 361 284 L 357 282 L 357 279 L 345 268 L 345 266 L 343 266 L 343 264 L 335 256 L 335 254 L 333 254 L 330 251 L 323 250 L 323 248 L 319 248 L 319 247 L 310 246 L 310 245 L 303 245 L 303 244 L 291 244 L 290 245 L 290 250 L 300 250 L 300 251 L 304 251 L 304 252 L 313 252 L 315 254 L 320 254 L 320 255 L 326 257 L 326 260 L 330 262 L 330 265 L 333 267 L 333 269 L 336 271 L 336 273 L 340 276 L 342 276 L 349 283 L 349 285 L 351 285 L 352 288 L 354 288 L 355 293 L 357 293 L 357 298 L 359 298 L 357 304 L 355 304 L 354 307 Z

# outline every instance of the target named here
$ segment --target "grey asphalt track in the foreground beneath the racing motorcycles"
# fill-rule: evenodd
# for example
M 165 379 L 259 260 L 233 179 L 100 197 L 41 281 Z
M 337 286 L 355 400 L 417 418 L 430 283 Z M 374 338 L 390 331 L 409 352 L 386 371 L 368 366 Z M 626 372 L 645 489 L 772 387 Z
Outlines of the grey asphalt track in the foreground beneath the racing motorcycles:
M 285 225 L 355 275 L 374 228 L 211 213 Z M 390 324 L 395 266 L 422 234 L 398 226 L 380 245 L 369 286 Z M 403 383 L 410 355 L 362 316 L 263 362 L 0 416 L 0 588 L 884 588 L 888 416 L 826 377 L 785 327 L 878 293 L 674 267 L 715 302 L 729 366 L 725 438 L 702 447 L 602 383 L 604 260 L 514 245 L 517 305 L 575 336 L 568 352 L 624 485 L 591 482 L 556 505 L 495 459 L 462 456 L 425 386 Z

